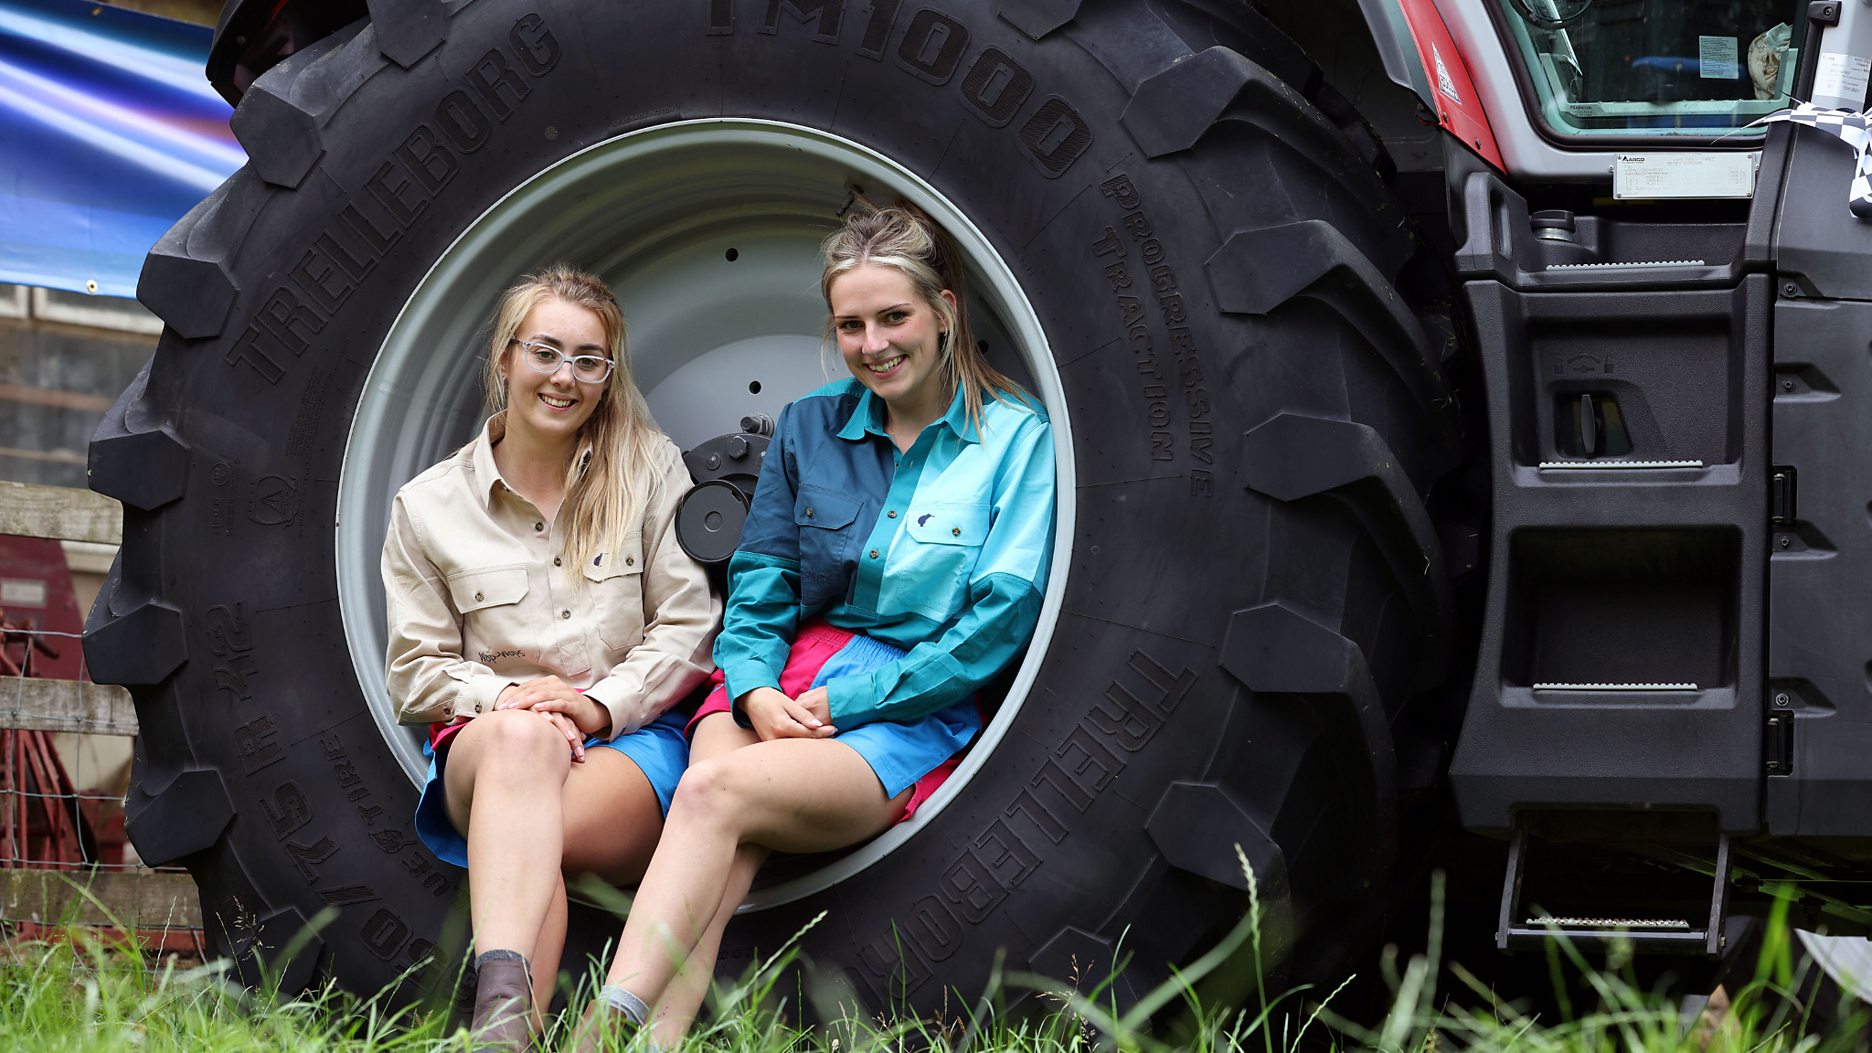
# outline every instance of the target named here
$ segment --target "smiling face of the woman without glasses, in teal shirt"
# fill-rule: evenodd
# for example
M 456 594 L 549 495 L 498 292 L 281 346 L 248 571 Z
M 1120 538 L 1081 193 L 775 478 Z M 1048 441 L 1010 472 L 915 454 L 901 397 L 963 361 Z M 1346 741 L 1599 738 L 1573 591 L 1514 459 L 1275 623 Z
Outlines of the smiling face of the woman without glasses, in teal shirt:
M 947 289 L 942 296 L 955 304 Z M 923 427 L 949 408 L 942 319 L 904 272 L 859 264 L 833 279 L 827 300 L 844 365 L 884 399 L 889 420 Z

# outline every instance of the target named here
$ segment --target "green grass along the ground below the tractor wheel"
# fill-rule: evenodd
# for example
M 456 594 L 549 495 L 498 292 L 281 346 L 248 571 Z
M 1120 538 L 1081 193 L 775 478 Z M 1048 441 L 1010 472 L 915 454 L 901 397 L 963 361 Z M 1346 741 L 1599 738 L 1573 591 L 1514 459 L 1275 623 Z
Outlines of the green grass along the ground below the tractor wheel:
M 1252 884 L 1252 879 L 1250 879 Z M 1252 888 L 1250 888 L 1252 892 Z M 1389 1008 L 1352 1021 L 1335 1004 L 1344 989 L 1299 987 L 1273 991 L 1260 972 L 1260 905 L 1234 933 L 1174 982 L 1148 991 L 1118 1012 L 1106 984 L 1080 978 L 1078 987 L 1022 974 L 990 976 L 985 995 L 934 1019 L 854 1019 L 833 999 L 814 991 L 781 989 L 788 952 L 715 993 L 713 1012 L 698 1025 L 685 1051 L 723 1053 L 1299 1053 L 1299 1051 L 1514 1051 L 1514 1053 L 1844 1053 L 1868 1047 L 1863 1014 L 1810 1032 L 1795 991 L 1801 986 L 1792 946 L 1769 941 L 1754 976 L 1737 980 L 1726 1012 L 1687 1021 L 1679 1002 L 1632 980 L 1629 963 L 1589 961 L 1556 944 L 1552 974 L 1559 1008 L 1533 1012 L 1498 999 L 1486 984 L 1456 963 L 1441 963 L 1430 918 L 1426 954 L 1398 963 L 1383 959 L 1380 972 L 1391 991 Z M 1440 907 L 1432 907 L 1440 914 Z M 1780 918 L 1775 920 L 1777 924 Z M 1771 929 L 1780 931 L 1780 929 Z M 382 999 L 322 991 L 270 999 L 228 980 L 225 963 L 176 967 L 152 963 L 135 948 L 86 929 L 56 941 L 11 941 L 0 959 L 0 1049 L 139 1053 L 236 1049 L 414 1053 L 466 1051 L 470 1044 L 440 1010 L 388 1010 Z M 1247 954 L 1237 954 L 1237 952 Z M 1237 984 L 1219 984 L 1230 963 L 1249 961 Z M 1443 989 L 1440 989 L 1443 987 Z M 575 993 L 580 1004 L 590 991 Z M 1211 1004 L 1228 991 L 1228 1004 Z M 1245 991 L 1245 993 L 1243 993 Z M 1022 995 L 1043 1012 L 1000 1014 Z M 835 1023 L 803 1029 L 788 1023 L 797 1006 L 812 1002 L 818 1019 Z M 1376 1017 L 1376 1019 L 1370 1019 Z M 548 1047 L 560 1047 L 565 1025 L 556 1025 Z

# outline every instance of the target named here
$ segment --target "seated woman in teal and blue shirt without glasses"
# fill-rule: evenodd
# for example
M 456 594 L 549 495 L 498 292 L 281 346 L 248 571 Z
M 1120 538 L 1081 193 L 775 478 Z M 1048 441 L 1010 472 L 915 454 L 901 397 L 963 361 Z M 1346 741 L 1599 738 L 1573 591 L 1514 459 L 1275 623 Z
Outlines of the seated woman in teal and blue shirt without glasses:
M 1052 431 L 970 334 L 955 249 L 915 210 L 856 208 L 820 290 L 852 375 L 781 412 L 728 564 L 717 688 L 580 1049 L 633 1027 L 681 1044 L 768 853 L 914 813 L 1039 620 Z

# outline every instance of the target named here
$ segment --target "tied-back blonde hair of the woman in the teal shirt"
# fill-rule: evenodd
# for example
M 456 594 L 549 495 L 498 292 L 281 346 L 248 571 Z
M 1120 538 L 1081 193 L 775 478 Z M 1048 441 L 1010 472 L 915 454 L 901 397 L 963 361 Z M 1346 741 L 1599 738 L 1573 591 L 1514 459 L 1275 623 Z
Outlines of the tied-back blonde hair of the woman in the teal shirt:
M 844 227 L 820 244 L 820 255 L 826 264 L 820 274 L 820 294 L 826 298 L 827 315 L 831 283 L 842 274 L 872 264 L 895 268 L 910 279 L 917 296 L 936 313 L 938 328 L 947 332 L 938 363 L 943 403 L 947 405 L 960 390 L 968 423 L 977 433 L 983 397 L 1000 401 L 1002 395 L 1013 395 L 1031 401 L 1020 384 L 988 365 L 988 356 L 975 343 L 975 332 L 968 324 L 968 275 L 962 272 L 960 253 L 949 234 L 919 208 L 914 204 L 872 208 L 857 197 Z M 955 294 L 955 304 L 943 298 L 945 289 Z M 826 339 L 833 337 L 833 322 L 827 317 Z

